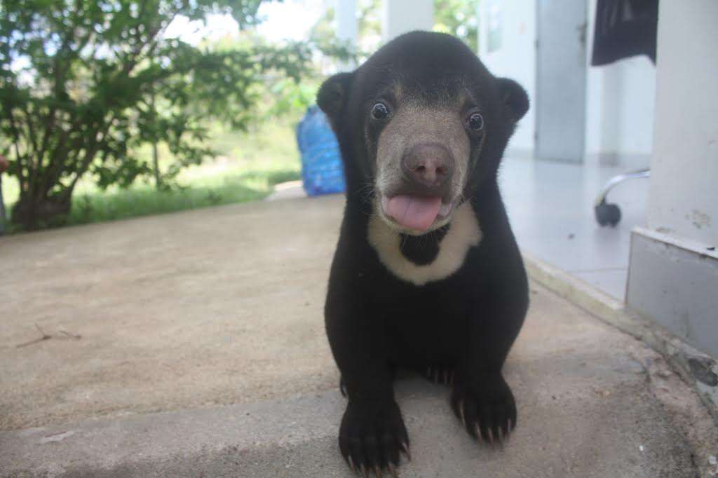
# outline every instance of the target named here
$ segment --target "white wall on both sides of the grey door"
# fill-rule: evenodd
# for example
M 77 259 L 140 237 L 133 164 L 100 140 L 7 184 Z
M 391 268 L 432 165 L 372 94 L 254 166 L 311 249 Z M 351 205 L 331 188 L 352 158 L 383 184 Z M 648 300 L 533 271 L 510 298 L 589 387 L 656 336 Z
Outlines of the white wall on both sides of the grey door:
M 607 161 L 648 164 L 653 146 L 656 70 L 647 57 L 591 67 L 596 0 L 588 1 L 586 39 L 585 153 Z M 536 0 L 500 1 L 503 44 L 488 52 L 488 1 L 480 1 L 479 56 L 495 75 L 517 80 L 536 100 Z M 511 139 L 509 151 L 532 151 L 535 111 L 529 110 Z M 634 161 L 638 159 L 638 161 Z

